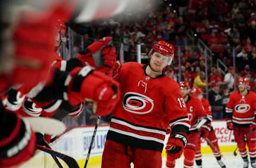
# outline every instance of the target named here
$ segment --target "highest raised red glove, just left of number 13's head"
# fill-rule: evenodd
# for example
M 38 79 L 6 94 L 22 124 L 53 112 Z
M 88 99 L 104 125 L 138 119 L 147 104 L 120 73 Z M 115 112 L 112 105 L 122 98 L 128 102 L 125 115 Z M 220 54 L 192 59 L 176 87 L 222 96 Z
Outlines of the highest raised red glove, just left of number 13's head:
M 90 65 L 101 72 L 109 72 L 116 61 L 115 47 L 107 46 L 111 43 L 112 37 L 104 37 L 88 46 L 84 52 L 78 54 L 78 58 L 83 65 Z M 97 55 L 92 57 L 92 55 Z M 98 60 L 94 60 L 95 58 Z M 103 64 L 103 65 L 102 65 Z

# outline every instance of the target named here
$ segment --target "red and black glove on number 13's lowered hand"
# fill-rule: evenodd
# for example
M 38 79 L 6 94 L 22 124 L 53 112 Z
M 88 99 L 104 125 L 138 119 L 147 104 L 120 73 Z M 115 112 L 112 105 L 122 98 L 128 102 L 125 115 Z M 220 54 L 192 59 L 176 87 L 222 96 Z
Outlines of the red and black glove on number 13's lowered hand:
M 169 137 L 165 149 L 172 154 L 170 157 L 174 160 L 180 158 L 187 142 L 187 135 L 183 132 L 178 132 Z

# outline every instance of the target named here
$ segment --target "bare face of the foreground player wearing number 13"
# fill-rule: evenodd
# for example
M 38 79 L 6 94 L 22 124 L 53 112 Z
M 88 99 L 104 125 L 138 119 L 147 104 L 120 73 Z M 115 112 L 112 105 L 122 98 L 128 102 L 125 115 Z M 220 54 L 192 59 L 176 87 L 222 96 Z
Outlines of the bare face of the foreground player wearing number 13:
M 154 71 L 162 72 L 165 66 L 167 66 L 167 64 L 163 61 L 165 57 L 166 56 L 164 56 L 163 54 L 154 52 L 154 54 L 151 55 L 150 59 L 151 68 Z

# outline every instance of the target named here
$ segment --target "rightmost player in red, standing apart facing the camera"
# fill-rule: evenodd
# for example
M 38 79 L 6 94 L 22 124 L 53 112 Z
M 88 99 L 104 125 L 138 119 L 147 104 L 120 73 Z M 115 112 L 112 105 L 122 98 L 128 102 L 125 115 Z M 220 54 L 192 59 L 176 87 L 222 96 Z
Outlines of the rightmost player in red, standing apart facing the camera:
M 226 106 L 227 128 L 234 130 L 237 145 L 244 140 L 244 136 L 256 128 L 256 94 L 247 90 L 249 80 L 245 77 L 238 80 L 238 90 L 231 93 Z M 249 148 L 251 166 L 256 167 L 256 131 L 252 131 L 239 146 L 239 153 L 244 161 L 244 168 L 249 167 L 249 160 L 245 146 Z

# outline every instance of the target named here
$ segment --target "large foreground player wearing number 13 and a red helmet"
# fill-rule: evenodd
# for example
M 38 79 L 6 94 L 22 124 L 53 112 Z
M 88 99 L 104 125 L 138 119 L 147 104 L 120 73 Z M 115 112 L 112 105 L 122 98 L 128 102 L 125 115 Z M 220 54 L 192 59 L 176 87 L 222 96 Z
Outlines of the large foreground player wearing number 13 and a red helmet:
M 190 127 L 186 104 L 177 82 L 163 74 L 174 56 L 173 46 L 159 41 L 146 65 L 116 64 L 114 79 L 121 86 L 121 100 L 110 123 L 101 167 L 162 167 L 167 127 L 172 135 L 166 150 L 175 159 L 187 145 Z

